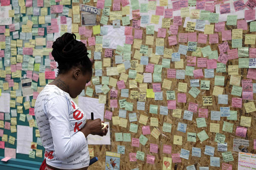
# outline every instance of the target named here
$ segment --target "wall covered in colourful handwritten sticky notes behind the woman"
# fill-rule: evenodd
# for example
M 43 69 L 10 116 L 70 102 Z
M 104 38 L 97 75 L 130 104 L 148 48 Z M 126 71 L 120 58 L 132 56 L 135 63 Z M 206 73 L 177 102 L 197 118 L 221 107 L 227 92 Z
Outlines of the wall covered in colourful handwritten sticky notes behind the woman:
M 111 145 L 89 145 L 99 158 L 92 168 L 105 168 L 106 151 L 121 153 L 120 169 L 129 170 L 236 170 L 239 152 L 255 153 L 255 0 L 1 5 L 0 90 L 10 108 L 0 113 L 0 156 L 16 148 L 15 128 L 25 125 L 37 147 L 16 157 L 43 160 L 33 107 L 56 76 L 49 53 L 65 32 L 86 44 L 94 63 L 81 95 L 104 103 L 110 122 Z M 23 78 L 32 79 L 32 94 Z

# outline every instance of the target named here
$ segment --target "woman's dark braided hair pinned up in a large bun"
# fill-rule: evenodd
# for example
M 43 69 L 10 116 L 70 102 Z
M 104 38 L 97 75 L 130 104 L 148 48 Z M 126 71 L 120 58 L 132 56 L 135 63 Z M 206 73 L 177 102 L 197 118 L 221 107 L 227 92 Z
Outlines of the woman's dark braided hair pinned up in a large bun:
M 58 74 L 64 74 L 73 66 L 79 67 L 83 74 L 92 73 L 93 66 L 87 56 L 87 48 L 76 40 L 75 34 L 65 33 L 52 44 L 52 56 L 58 62 Z

